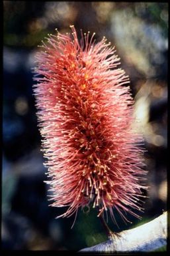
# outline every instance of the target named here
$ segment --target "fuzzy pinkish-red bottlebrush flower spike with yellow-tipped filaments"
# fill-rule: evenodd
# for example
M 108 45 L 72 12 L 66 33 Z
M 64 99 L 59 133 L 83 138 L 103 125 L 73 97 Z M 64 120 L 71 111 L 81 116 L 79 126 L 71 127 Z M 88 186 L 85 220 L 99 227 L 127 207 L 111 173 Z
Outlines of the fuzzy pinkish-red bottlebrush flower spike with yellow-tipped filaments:
M 134 101 L 128 76 L 105 37 L 95 44 L 89 32 L 48 35 L 36 55 L 36 107 L 52 206 L 116 209 L 139 217 L 144 180 L 142 136 L 132 130 Z

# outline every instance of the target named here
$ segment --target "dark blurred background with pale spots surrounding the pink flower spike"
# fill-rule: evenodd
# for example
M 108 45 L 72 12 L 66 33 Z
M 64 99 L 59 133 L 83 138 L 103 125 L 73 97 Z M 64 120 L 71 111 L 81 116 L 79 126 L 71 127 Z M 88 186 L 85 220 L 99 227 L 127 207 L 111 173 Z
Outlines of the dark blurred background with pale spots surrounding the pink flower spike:
M 105 241 L 95 209 L 55 219 L 64 209 L 49 207 L 40 152 L 32 68 L 37 45 L 69 25 L 103 36 L 116 46 L 130 76 L 135 114 L 141 122 L 148 170 L 145 211 L 130 225 L 116 215 L 121 231 L 145 223 L 167 203 L 168 3 L 4 1 L 3 32 L 3 249 L 79 250 Z

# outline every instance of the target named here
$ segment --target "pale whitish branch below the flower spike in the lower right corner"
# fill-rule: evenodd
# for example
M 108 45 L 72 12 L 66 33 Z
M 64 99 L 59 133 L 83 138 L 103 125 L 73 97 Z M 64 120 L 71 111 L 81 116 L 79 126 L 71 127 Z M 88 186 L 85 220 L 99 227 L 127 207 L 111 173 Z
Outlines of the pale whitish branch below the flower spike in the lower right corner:
M 122 231 L 114 237 L 80 252 L 153 251 L 167 244 L 167 211 L 148 223 Z

